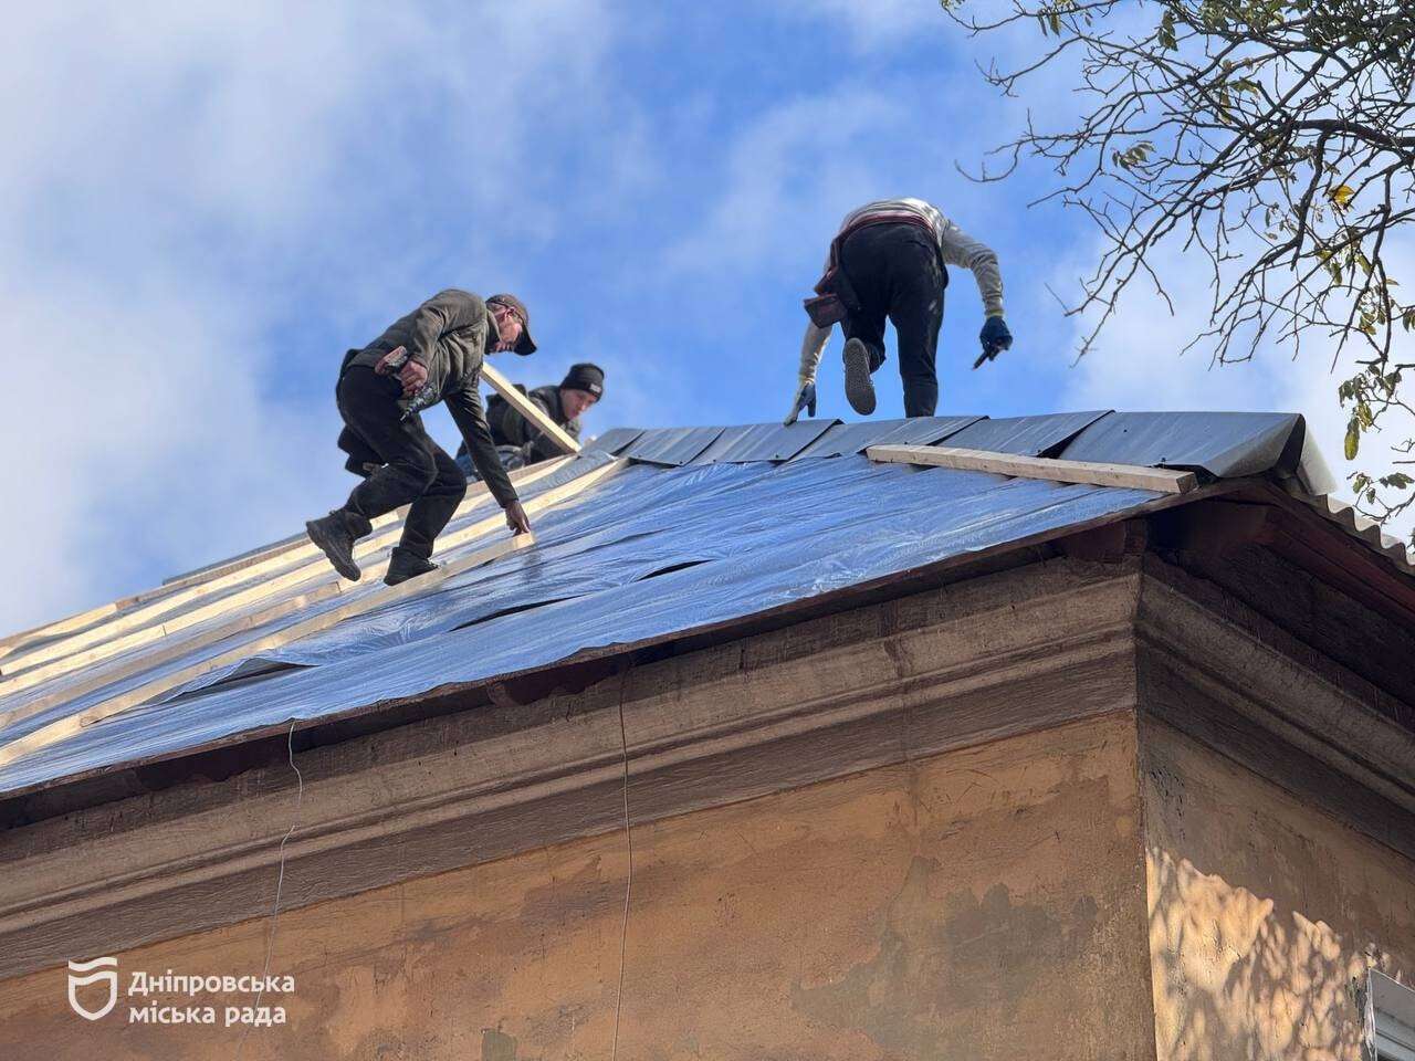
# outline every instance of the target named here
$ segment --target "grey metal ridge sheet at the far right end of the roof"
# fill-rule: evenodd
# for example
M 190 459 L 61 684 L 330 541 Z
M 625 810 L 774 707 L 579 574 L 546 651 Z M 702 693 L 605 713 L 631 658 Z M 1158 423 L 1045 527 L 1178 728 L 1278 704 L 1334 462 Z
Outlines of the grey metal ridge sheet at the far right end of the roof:
M 1296 413 L 1109 413 L 1061 451 L 1068 461 L 1203 468 L 1217 478 L 1292 471 L 1306 434 Z

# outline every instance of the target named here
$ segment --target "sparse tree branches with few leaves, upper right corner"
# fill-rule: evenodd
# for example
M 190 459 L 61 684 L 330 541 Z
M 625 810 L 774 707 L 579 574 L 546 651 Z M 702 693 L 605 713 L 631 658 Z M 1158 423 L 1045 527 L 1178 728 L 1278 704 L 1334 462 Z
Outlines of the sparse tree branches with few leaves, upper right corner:
M 992 154 L 1013 175 L 1026 158 L 1051 167 L 1037 201 L 1081 211 L 1102 235 L 1094 270 L 1064 304 L 1092 349 L 1122 293 L 1143 277 L 1170 306 L 1157 250 L 1206 262 L 1210 318 L 1186 349 L 1247 361 L 1264 345 L 1293 356 L 1309 334 L 1336 341 L 1337 364 L 1363 347 L 1360 372 L 1337 388 L 1350 417 L 1346 456 L 1415 412 L 1401 385 L 1412 369 L 1415 304 L 1387 259 L 1415 229 L 1415 4 L 1409 0 L 1012 0 L 990 20 L 972 0 L 940 0 L 981 37 L 1034 25 L 1037 55 L 981 66 L 1009 96 L 1077 59 L 1085 105 L 1070 129 L 1026 127 Z M 1415 453 L 1415 437 L 1392 443 Z M 1411 464 L 1415 461 L 1397 461 Z M 1357 471 L 1358 502 L 1380 519 L 1415 505 L 1415 478 Z

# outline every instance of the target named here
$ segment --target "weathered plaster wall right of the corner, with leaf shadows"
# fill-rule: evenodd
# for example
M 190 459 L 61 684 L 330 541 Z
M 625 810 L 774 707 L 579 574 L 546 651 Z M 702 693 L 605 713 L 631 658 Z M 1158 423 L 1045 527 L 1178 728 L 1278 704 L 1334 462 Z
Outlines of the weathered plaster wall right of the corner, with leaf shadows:
M 1160 1061 L 1360 1061 L 1415 980 L 1415 864 L 1160 723 L 1140 730 Z

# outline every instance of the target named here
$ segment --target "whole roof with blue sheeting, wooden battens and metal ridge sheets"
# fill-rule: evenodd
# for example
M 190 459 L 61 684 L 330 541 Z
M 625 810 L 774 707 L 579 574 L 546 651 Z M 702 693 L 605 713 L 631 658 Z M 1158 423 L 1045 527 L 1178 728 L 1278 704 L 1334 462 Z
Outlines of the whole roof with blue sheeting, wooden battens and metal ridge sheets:
M 311 563 L 307 543 L 291 538 L 0 642 L 0 796 L 587 655 L 730 631 L 842 590 L 1204 492 L 863 456 L 880 443 L 945 441 L 1187 468 L 1208 489 L 1281 480 L 1353 542 L 1381 550 L 1392 573 L 1412 572 L 1404 550 L 1310 492 L 1316 464 L 1310 450 L 1303 460 L 1295 414 L 1102 410 L 614 429 L 577 457 L 519 472 L 535 547 L 512 550 L 492 501 L 470 494 L 437 556 L 456 573 L 426 589 L 406 583 L 398 600 L 376 579 L 333 580 L 323 559 L 316 553 Z M 385 522 L 388 538 L 396 529 L 396 519 Z M 304 630 L 311 632 L 290 637 Z

